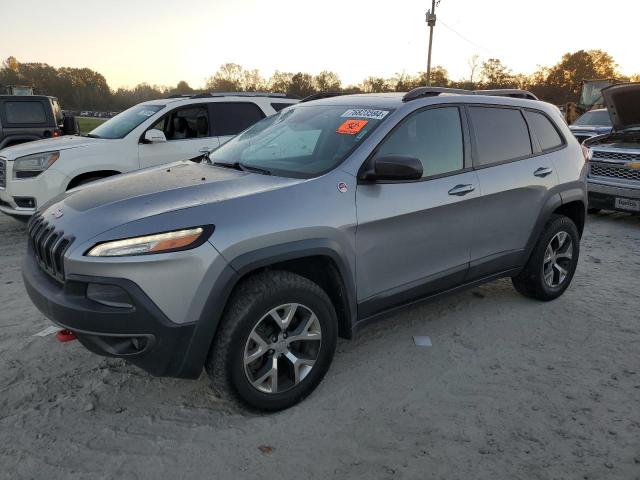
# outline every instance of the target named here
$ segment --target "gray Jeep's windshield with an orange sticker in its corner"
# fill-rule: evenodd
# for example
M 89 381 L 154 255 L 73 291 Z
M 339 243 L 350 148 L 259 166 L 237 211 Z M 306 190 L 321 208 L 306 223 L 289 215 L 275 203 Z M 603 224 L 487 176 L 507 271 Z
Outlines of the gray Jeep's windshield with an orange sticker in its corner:
M 256 123 L 210 155 L 274 175 L 310 178 L 340 164 L 391 110 L 305 105 Z

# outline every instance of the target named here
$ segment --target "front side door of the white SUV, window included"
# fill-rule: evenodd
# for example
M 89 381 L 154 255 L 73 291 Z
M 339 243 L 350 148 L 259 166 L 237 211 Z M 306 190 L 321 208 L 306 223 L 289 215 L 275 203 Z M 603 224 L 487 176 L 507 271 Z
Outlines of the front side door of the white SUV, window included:
M 210 151 L 219 146 L 218 139 L 212 132 L 206 103 L 176 108 L 149 127 L 152 128 L 162 130 L 167 141 L 141 141 L 138 145 L 140 168 L 197 158 L 202 155 L 203 150 Z

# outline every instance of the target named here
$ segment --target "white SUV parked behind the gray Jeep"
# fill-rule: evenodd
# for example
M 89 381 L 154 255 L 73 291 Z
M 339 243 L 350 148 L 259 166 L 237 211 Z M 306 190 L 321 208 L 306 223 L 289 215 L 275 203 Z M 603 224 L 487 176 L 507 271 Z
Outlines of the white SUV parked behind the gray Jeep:
M 284 94 L 203 93 L 144 102 L 87 136 L 0 150 L 0 211 L 29 217 L 71 188 L 118 173 L 201 157 L 297 103 Z

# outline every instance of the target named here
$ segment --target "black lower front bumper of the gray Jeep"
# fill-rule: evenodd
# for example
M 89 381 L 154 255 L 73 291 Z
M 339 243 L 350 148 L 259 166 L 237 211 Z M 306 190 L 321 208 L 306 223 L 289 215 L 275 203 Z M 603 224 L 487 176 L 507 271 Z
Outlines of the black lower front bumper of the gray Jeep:
M 134 282 L 71 274 L 61 284 L 38 266 L 32 251 L 23 259 L 22 272 L 38 310 L 74 332 L 90 351 L 124 358 L 155 376 L 197 378 L 202 372 L 202 363 L 190 361 L 188 351 L 196 323 L 171 322 Z M 119 286 L 129 295 L 132 308 L 90 300 L 89 283 Z

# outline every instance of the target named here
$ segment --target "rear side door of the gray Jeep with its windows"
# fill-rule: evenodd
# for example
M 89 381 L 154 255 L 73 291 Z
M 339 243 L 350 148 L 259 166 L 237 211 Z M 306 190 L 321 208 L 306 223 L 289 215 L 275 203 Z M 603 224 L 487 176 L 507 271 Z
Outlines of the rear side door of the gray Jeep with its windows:
M 561 148 L 563 141 L 540 112 L 474 105 L 468 113 L 482 192 L 469 270 L 469 278 L 476 279 L 523 264 L 529 237 L 557 185 L 547 153 Z M 529 122 L 549 134 L 545 148 L 530 135 Z

